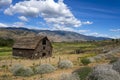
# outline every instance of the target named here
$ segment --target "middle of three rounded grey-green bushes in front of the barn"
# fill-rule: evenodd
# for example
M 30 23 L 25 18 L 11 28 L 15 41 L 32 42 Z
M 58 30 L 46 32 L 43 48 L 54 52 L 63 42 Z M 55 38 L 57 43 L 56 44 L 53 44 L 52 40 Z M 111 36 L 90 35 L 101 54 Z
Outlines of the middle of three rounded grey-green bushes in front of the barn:
M 51 73 L 55 70 L 56 68 L 51 64 L 41 64 L 40 66 L 35 67 L 35 73 L 37 74 Z

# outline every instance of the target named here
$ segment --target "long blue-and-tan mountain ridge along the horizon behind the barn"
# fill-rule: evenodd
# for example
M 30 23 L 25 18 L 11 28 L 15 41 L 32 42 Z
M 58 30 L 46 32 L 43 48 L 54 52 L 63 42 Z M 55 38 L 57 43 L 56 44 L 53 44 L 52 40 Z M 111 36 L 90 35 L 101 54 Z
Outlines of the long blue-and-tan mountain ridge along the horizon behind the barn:
M 94 37 L 94 36 L 85 36 L 76 32 L 71 31 L 50 31 L 50 30 L 35 30 L 27 29 L 23 27 L 6 27 L 0 28 L 0 37 L 2 38 L 13 38 L 23 36 L 35 36 L 35 35 L 45 35 L 51 41 L 54 42 L 72 42 L 72 41 L 89 41 L 89 40 L 106 40 L 110 38 L 105 37 Z

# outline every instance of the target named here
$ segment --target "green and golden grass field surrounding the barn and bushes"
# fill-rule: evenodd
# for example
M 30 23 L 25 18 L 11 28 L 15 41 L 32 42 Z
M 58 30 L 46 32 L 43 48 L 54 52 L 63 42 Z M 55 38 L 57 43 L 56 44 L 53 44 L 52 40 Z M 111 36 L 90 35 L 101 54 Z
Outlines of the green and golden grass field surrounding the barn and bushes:
M 52 64 L 54 67 L 56 67 L 56 70 L 52 73 L 43 74 L 42 77 L 55 78 L 54 80 L 58 80 L 60 75 L 63 73 L 72 73 L 73 71 L 85 66 L 94 67 L 98 64 L 109 63 L 111 59 L 102 58 L 100 60 L 96 60 L 95 62 L 91 62 L 88 65 L 83 65 L 81 59 L 95 57 L 99 54 L 103 54 L 101 53 L 104 52 L 103 48 L 107 47 L 111 49 L 111 46 L 119 47 L 119 44 L 115 45 L 114 43 L 107 41 L 53 43 L 53 56 L 50 58 L 40 58 L 37 60 L 12 57 L 11 47 L 0 47 L 0 80 L 39 80 L 41 78 L 41 75 L 39 74 L 35 74 L 29 77 L 14 76 L 11 73 L 10 68 L 15 64 L 22 64 L 26 67 L 32 67 L 45 63 Z M 75 53 L 76 50 L 82 50 L 82 52 Z M 114 50 L 113 47 L 112 50 Z M 120 52 L 116 52 L 114 56 L 120 58 Z M 61 60 L 70 60 L 73 63 L 73 67 L 69 69 L 59 69 L 58 62 Z

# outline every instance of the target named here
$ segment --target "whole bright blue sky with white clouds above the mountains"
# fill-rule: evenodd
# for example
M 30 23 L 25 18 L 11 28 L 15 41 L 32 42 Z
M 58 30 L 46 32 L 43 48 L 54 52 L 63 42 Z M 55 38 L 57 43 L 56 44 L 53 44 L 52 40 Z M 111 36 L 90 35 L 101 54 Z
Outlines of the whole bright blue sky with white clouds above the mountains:
M 0 0 L 0 27 L 120 38 L 120 0 Z

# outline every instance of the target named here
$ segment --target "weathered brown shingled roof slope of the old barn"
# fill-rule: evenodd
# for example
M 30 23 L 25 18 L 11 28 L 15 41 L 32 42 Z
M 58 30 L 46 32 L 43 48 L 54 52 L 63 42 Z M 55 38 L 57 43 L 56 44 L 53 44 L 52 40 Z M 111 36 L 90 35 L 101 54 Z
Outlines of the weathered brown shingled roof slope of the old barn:
M 38 43 L 46 36 L 35 36 L 35 37 L 22 37 L 18 38 L 13 45 L 13 48 L 17 49 L 35 49 Z

